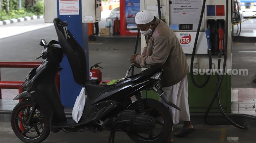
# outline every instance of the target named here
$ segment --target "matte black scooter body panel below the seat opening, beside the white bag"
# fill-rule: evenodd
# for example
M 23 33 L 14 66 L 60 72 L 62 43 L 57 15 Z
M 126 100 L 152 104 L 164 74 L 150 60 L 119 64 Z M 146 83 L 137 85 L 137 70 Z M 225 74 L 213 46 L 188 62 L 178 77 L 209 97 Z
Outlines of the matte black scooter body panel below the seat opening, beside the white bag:
M 93 84 L 90 82 L 85 83 L 85 90 L 87 91 L 88 96 L 91 98 L 97 97 L 101 93 L 113 87 L 114 85 L 99 85 L 99 84 Z

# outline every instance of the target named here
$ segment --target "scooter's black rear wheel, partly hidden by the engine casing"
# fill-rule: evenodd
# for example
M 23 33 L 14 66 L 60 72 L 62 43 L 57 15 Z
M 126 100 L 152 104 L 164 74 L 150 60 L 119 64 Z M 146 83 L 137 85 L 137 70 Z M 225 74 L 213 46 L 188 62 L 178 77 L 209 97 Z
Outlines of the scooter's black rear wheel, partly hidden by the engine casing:
M 172 116 L 167 107 L 161 102 L 153 99 L 143 99 L 147 115 L 156 120 L 156 126 L 148 133 L 138 134 L 136 132 L 127 132 L 127 135 L 135 143 L 162 143 L 166 141 L 172 131 Z M 134 102 L 128 109 L 138 111 L 138 102 Z

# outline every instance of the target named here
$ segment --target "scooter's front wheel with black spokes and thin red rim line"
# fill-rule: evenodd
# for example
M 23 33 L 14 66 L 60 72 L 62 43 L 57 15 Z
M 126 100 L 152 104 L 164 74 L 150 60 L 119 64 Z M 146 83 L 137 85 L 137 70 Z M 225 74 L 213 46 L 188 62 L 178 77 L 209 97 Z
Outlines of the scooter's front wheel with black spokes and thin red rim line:
M 32 102 L 22 101 L 18 103 L 13 109 L 11 127 L 15 135 L 25 143 L 40 143 L 49 135 L 50 127 L 38 107 L 32 115 L 31 122 L 27 123 L 32 110 Z

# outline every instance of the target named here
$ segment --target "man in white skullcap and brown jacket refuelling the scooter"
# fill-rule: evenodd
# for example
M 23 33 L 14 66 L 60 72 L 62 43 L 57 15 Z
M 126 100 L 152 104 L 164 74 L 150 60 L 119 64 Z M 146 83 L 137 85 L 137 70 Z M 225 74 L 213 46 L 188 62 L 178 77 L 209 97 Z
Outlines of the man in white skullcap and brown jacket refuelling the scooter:
M 170 101 L 180 107 L 181 111 L 169 107 L 173 123 L 184 121 L 183 128 L 174 134 L 176 137 L 186 136 L 195 129 L 190 122 L 188 104 L 187 73 L 189 66 L 182 47 L 174 32 L 162 20 L 154 17 L 149 11 L 140 11 L 135 16 L 135 23 L 145 36 L 147 46 L 142 55 L 132 55 L 131 63 L 136 67 L 149 68 L 155 64 L 162 64 L 163 75 L 160 85 Z M 167 142 L 172 142 L 171 135 Z

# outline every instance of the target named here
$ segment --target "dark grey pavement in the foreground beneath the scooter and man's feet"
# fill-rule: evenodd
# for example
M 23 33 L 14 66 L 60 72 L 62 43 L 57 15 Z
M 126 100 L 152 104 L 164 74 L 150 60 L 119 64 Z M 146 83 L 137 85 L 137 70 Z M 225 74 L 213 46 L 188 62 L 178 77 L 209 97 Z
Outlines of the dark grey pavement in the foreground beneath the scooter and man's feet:
M 172 133 L 177 132 L 182 126 L 175 125 Z M 231 125 L 194 125 L 196 131 L 185 138 L 174 138 L 174 143 L 255 143 L 255 128 L 241 130 Z M 63 131 L 50 133 L 44 143 L 106 143 L 108 131 L 103 132 L 71 132 Z M 9 122 L 0 122 L 1 143 L 22 143 L 10 127 Z M 115 143 L 133 143 L 124 132 L 117 132 Z

